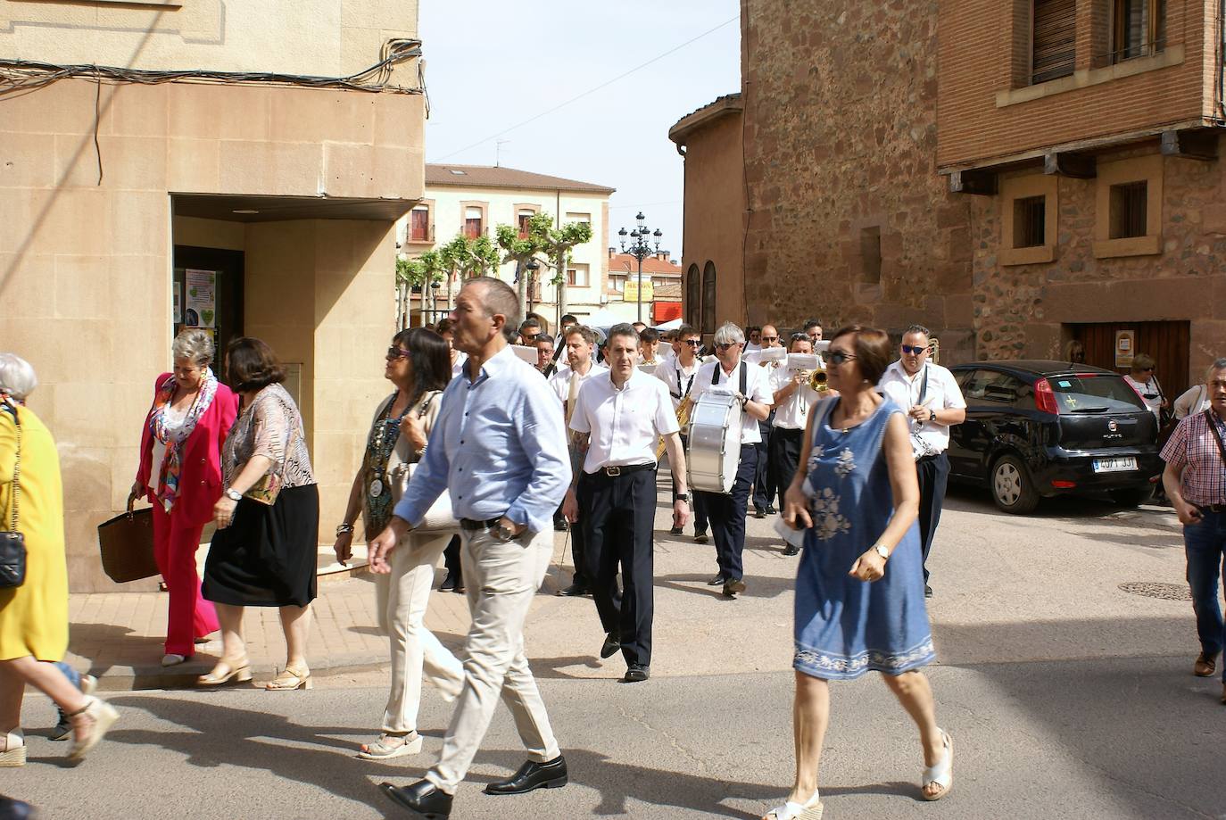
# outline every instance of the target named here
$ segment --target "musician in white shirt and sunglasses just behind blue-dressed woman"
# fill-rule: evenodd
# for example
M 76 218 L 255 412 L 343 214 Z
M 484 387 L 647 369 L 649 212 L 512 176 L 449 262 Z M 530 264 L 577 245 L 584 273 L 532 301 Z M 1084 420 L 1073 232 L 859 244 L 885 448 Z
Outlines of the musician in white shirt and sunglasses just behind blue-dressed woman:
M 949 480 L 949 428 L 966 420 L 966 401 L 954 381 L 954 374 L 928 360 L 931 333 L 923 325 L 912 325 L 902 335 L 897 362 L 886 368 L 878 387 L 907 411 L 911 450 L 920 474 L 920 541 L 923 547 L 924 596 L 928 585 L 928 553 L 940 522 Z

